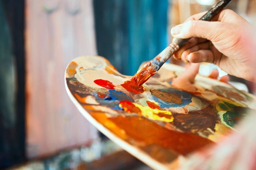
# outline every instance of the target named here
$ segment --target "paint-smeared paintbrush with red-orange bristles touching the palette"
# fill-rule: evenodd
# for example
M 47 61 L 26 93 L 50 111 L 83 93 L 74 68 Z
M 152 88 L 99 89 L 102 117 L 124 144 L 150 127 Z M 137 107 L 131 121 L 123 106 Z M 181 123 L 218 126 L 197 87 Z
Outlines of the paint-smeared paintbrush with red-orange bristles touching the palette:
M 220 0 L 215 4 L 204 16 L 199 20 L 210 21 L 220 10 L 222 10 L 227 4 L 232 0 Z M 131 81 L 134 82 L 137 86 L 145 83 L 151 76 L 153 76 L 162 65 L 170 59 L 170 57 L 178 51 L 188 40 L 176 38 L 166 49 L 164 49 L 160 54 L 158 54 L 154 59 L 146 63 L 142 69 L 138 70 L 137 73 L 131 78 Z

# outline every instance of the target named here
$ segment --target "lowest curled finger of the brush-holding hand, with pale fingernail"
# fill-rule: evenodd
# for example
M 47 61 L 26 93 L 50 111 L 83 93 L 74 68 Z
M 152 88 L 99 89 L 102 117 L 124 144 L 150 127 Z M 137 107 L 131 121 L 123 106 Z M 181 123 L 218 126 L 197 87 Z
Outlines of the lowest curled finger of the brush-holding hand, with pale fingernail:
M 187 60 L 191 63 L 212 63 L 214 61 L 214 54 L 210 49 L 200 49 L 199 51 L 190 53 L 187 56 Z

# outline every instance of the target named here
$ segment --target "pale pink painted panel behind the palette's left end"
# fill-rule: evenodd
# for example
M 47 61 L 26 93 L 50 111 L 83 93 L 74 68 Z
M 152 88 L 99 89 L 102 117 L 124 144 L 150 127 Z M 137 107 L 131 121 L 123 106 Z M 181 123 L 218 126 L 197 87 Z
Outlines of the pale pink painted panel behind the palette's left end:
M 26 0 L 28 158 L 86 144 L 97 130 L 64 87 L 69 61 L 96 54 L 92 0 Z

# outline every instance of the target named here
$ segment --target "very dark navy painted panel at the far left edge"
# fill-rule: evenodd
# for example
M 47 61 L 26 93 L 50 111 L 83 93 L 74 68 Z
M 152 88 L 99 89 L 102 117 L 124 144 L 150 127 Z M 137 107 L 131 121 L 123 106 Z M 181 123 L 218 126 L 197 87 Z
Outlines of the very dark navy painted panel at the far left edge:
M 0 169 L 25 160 L 23 16 L 23 0 L 0 0 Z

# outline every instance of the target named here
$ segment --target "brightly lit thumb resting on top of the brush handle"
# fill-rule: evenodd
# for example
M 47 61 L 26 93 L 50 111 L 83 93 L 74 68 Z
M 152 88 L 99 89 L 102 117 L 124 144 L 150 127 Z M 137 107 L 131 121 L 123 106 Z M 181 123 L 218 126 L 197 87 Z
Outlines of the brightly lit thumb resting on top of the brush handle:
M 175 26 L 171 34 L 175 38 L 205 38 L 212 42 L 222 39 L 225 26 L 222 22 L 209 22 L 201 20 L 189 20 L 183 24 Z

